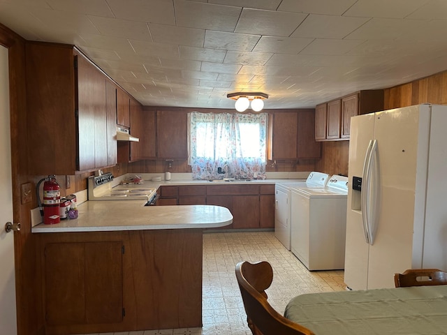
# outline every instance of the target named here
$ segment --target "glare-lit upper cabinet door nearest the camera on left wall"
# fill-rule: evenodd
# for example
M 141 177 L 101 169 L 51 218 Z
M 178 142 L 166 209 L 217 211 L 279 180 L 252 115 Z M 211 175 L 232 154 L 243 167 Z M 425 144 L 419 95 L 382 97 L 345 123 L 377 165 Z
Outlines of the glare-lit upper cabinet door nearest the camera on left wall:
M 107 110 L 105 76 L 87 59 L 78 62 L 79 170 L 107 166 Z

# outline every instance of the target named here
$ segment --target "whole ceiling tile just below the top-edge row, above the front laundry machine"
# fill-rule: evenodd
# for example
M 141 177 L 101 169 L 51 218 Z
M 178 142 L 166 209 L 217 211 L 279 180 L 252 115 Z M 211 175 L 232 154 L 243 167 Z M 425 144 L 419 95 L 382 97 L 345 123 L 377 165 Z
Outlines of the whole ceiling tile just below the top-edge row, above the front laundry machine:
M 361 27 L 369 19 L 365 17 L 341 17 L 333 15 L 309 15 L 291 37 L 344 38 Z

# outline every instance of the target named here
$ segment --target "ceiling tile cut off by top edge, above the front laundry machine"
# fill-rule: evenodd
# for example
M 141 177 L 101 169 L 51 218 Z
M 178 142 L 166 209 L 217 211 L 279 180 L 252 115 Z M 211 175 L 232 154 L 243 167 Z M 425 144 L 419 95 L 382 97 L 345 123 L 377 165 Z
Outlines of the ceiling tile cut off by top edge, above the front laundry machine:
M 357 0 L 283 0 L 278 10 L 296 13 L 342 15 Z

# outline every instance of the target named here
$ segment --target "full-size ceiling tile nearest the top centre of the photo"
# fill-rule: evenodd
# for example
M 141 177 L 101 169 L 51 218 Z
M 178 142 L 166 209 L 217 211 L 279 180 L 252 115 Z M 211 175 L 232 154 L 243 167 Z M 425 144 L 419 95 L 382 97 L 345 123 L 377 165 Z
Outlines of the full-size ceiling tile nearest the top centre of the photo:
M 175 24 L 180 27 L 234 31 L 242 8 L 175 0 Z

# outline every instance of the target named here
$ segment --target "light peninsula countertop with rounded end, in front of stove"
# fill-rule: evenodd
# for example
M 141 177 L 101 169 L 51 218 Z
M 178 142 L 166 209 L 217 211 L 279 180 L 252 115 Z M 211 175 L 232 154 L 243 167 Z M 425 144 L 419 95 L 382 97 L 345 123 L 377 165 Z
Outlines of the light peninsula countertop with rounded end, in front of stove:
M 225 207 L 209 205 L 144 206 L 141 200 L 87 201 L 78 218 L 54 225 L 43 223 L 31 232 L 99 232 L 224 227 L 233 222 Z

